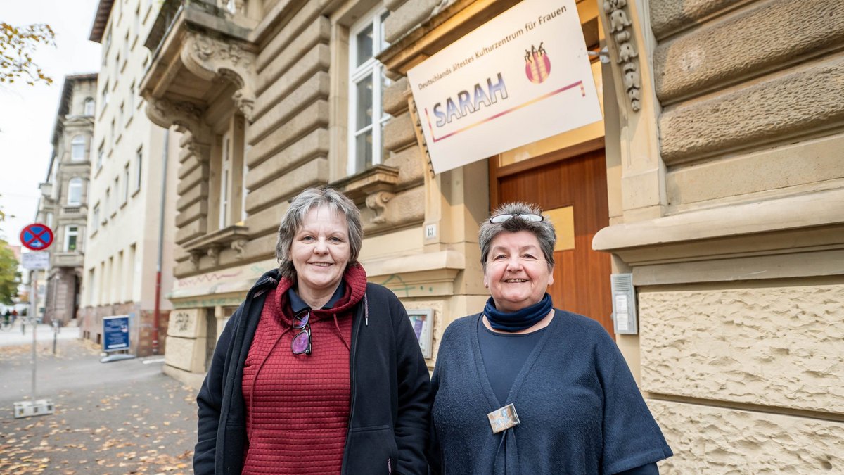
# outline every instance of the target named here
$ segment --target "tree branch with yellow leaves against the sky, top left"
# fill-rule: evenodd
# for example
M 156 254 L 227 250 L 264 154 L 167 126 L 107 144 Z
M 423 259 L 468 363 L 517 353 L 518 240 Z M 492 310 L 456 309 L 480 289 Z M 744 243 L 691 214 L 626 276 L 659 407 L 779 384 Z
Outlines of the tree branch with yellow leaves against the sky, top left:
M 51 84 L 52 79 L 32 61 L 32 54 L 38 46 L 56 46 L 55 39 L 46 23 L 17 27 L 0 22 L 0 83 L 23 79 L 28 85 Z

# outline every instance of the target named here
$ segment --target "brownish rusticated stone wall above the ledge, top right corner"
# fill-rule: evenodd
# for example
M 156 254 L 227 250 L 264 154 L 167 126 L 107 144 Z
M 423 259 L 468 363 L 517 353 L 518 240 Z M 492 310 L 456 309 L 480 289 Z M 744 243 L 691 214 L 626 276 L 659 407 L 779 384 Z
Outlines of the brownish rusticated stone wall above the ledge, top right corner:
M 654 0 L 649 14 L 668 212 L 844 179 L 828 157 L 844 139 L 839 3 Z

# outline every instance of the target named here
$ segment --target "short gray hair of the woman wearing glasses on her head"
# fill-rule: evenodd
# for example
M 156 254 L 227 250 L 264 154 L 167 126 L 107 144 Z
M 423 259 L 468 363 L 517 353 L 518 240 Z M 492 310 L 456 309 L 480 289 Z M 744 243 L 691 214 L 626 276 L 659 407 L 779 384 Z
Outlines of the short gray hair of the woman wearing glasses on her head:
M 505 203 L 492 211 L 490 218 L 496 215 L 542 215 L 542 209 L 530 203 Z M 532 232 L 539 241 L 539 248 L 542 250 L 548 270 L 554 270 L 554 246 L 557 243 L 557 234 L 554 225 L 544 216 L 543 221 L 527 221 L 519 218 L 511 218 L 500 223 L 491 223 L 487 218 L 480 223 L 478 230 L 478 243 L 480 245 L 480 264 L 486 272 L 486 258 L 490 255 L 492 240 L 501 232 Z

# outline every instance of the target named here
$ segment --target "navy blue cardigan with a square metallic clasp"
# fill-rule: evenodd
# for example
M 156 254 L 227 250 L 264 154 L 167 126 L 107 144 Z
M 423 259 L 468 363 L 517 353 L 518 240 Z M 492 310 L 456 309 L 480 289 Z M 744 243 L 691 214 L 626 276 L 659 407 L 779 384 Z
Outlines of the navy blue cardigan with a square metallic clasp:
M 507 400 L 498 401 L 480 356 L 479 319 L 457 319 L 440 343 L 432 472 L 610 474 L 673 455 L 598 322 L 555 309 Z M 486 414 L 509 403 L 521 424 L 493 434 Z

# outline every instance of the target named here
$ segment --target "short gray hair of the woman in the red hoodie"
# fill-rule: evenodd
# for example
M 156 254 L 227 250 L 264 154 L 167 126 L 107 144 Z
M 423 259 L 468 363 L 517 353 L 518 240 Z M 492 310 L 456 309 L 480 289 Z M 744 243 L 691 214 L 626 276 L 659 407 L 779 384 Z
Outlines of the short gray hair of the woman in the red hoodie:
M 281 225 L 279 225 L 279 241 L 275 244 L 275 257 L 279 259 L 279 270 L 281 270 L 282 277 L 295 280 L 296 270 L 293 262 L 289 259 L 290 247 L 293 245 L 293 239 L 302 227 L 308 211 L 320 206 L 327 206 L 330 210 L 346 217 L 346 222 L 349 224 L 349 265 L 358 263 L 358 254 L 360 254 L 360 246 L 364 240 L 364 232 L 360 225 L 360 210 L 358 210 L 357 205 L 354 205 L 351 199 L 334 188 L 307 188 L 290 202 L 290 207 L 284 213 L 284 217 L 281 218 Z

